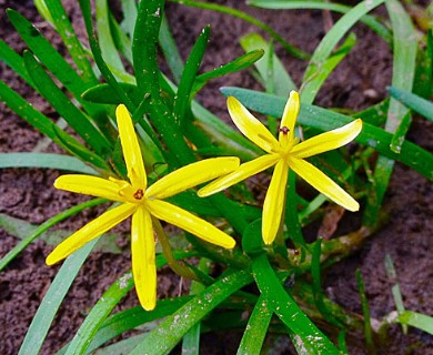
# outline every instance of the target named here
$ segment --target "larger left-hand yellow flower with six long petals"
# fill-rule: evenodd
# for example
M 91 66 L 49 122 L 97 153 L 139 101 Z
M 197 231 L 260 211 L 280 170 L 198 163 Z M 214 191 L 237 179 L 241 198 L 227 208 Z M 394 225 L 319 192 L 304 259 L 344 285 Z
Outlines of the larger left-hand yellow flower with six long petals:
M 115 111 L 120 141 L 127 163 L 128 181 L 90 175 L 63 175 L 54 186 L 71 192 L 109 199 L 122 204 L 104 212 L 59 244 L 47 257 L 52 265 L 85 243 L 132 215 L 132 274 L 137 294 L 143 308 L 153 310 L 157 303 L 157 266 L 152 216 L 174 224 L 200 239 L 225 248 L 234 247 L 234 240 L 209 222 L 173 204 L 162 201 L 187 189 L 228 174 L 239 166 L 238 158 L 215 158 L 183 166 L 148 187 L 140 146 L 131 116 L 124 105 Z

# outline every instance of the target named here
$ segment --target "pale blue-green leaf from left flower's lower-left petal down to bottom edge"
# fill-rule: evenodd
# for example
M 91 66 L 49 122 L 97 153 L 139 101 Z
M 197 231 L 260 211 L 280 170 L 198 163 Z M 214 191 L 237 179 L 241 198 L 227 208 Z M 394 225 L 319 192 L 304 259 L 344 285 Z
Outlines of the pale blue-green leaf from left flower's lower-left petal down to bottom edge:
M 54 316 L 62 304 L 73 280 L 75 278 L 81 265 L 97 244 L 98 239 L 89 242 L 83 247 L 69 256 L 57 273 L 50 288 L 43 297 L 37 314 L 34 315 L 24 341 L 20 347 L 19 354 L 38 354 L 43 339 L 51 326 Z

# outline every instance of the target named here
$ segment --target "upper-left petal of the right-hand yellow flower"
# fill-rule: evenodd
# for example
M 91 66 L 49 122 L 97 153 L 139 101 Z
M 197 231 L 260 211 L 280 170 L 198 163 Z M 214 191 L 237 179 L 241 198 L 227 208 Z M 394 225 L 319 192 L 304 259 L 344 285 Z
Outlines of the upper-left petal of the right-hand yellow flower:
M 275 152 L 280 144 L 270 131 L 233 97 L 226 100 L 229 113 L 238 129 L 268 153 Z

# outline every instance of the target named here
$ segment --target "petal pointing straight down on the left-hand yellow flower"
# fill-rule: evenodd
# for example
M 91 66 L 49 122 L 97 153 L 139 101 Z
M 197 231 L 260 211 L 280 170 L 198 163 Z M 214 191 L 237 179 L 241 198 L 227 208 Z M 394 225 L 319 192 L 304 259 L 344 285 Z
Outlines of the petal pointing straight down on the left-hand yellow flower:
M 157 265 L 152 219 L 140 206 L 131 224 L 132 274 L 140 304 L 152 311 L 157 304 Z

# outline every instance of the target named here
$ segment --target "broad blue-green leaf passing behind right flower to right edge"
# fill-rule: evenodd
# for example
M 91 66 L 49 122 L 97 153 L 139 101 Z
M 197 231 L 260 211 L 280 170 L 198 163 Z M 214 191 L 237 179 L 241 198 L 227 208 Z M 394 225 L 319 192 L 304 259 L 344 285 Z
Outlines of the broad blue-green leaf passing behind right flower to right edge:
M 222 88 L 224 95 L 238 98 L 246 108 L 263 114 L 281 116 L 285 99 L 240 88 Z M 300 124 L 330 131 L 342 126 L 353 119 L 341 113 L 325 110 L 319 106 L 301 104 L 298 118 Z M 363 130 L 356 138 L 356 142 L 374 148 L 381 154 L 402 162 L 417 171 L 429 180 L 433 180 L 433 155 L 422 148 L 404 141 L 399 154 L 390 149 L 392 134 L 369 123 L 363 124 Z

